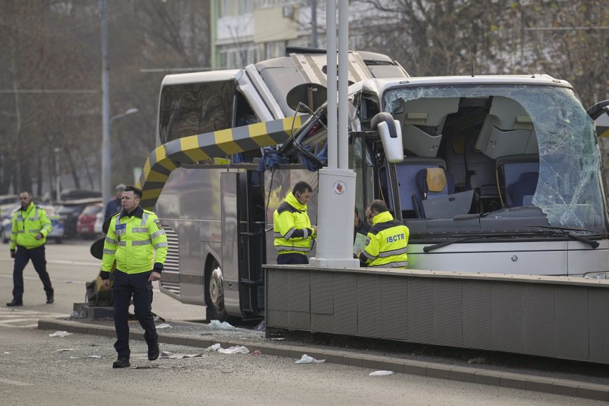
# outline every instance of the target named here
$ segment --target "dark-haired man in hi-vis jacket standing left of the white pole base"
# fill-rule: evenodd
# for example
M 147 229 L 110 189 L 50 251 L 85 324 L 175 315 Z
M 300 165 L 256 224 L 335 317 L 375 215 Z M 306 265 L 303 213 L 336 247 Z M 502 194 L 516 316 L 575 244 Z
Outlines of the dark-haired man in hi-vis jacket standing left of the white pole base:
M 273 213 L 273 231 L 277 264 L 308 264 L 307 254 L 317 238 L 317 227 L 307 215 L 307 202 L 313 189 L 307 182 L 297 182 L 283 203 Z

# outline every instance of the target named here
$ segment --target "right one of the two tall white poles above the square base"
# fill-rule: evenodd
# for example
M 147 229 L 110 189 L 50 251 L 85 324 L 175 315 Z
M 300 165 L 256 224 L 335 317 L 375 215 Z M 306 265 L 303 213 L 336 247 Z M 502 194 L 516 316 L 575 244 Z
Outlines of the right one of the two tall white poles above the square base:
M 349 1 L 338 0 L 338 168 L 349 169 Z

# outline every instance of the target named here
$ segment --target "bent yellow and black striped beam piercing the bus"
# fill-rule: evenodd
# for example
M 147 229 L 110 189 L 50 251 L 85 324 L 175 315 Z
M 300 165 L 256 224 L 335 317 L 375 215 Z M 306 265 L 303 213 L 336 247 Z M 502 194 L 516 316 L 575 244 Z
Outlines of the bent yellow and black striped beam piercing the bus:
M 308 118 L 308 115 L 288 117 L 213 133 L 190 135 L 157 147 L 148 156 L 138 182 L 138 187 L 144 193 L 140 205 L 152 210 L 171 171 L 182 163 L 196 163 L 281 144 L 288 140 L 292 128 L 300 128 Z

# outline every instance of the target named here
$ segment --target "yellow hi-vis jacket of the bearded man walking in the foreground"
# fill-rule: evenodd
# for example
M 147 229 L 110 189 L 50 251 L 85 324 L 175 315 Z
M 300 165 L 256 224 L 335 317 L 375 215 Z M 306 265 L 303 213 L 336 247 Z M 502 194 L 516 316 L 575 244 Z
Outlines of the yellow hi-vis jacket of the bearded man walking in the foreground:
M 153 212 L 138 206 L 131 217 L 120 212 L 112 217 L 104 242 L 102 271 L 116 269 L 124 273 L 141 273 L 163 269 L 167 256 L 167 236 Z M 157 265 L 159 264 L 159 265 Z

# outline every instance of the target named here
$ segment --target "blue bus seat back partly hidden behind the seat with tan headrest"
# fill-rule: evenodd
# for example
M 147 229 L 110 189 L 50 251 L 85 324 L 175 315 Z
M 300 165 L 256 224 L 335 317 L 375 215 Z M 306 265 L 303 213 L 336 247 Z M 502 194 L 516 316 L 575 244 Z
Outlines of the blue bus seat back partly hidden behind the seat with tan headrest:
M 427 168 L 443 168 L 446 170 L 446 163 L 442 158 L 406 156 L 402 163 L 396 165 L 401 210 L 413 210 L 417 217 L 420 214 L 418 208 L 415 207 L 416 202 L 419 201 L 418 196 L 420 196 L 417 187 L 417 173 L 420 170 L 427 170 Z

